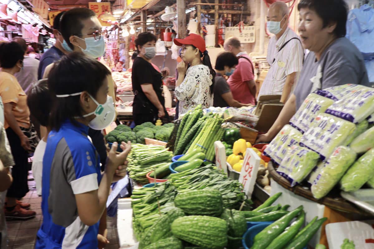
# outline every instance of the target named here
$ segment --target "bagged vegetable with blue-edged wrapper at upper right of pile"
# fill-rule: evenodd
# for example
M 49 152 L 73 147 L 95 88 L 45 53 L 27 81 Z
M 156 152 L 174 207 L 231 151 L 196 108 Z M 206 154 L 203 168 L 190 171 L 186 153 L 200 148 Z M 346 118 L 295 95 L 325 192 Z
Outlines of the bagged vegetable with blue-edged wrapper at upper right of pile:
M 326 113 L 355 124 L 364 121 L 373 112 L 374 89 L 371 87 L 350 91 L 326 110 Z

